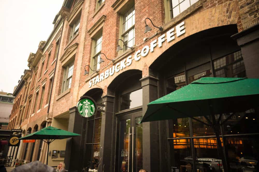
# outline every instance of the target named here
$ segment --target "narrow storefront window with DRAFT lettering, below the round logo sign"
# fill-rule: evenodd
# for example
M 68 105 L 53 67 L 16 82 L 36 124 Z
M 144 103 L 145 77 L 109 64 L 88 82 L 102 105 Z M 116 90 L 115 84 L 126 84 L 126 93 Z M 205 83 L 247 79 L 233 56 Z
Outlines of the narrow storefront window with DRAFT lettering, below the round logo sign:
M 98 169 L 102 112 L 88 118 L 86 140 L 86 164 L 90 169 Z

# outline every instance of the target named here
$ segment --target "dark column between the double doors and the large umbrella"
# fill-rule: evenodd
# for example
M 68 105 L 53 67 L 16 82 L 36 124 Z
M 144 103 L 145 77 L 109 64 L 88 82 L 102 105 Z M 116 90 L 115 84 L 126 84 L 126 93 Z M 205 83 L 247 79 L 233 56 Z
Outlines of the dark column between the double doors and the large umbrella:
M 143 94 L 143 116 L 147 111 L 147 104 L 158 98 L 158 79 L 147 76 L 140 79 Z M 143 126 L 143 169 L 160 171 L 159 154 L 159 122 L 144 122 Z

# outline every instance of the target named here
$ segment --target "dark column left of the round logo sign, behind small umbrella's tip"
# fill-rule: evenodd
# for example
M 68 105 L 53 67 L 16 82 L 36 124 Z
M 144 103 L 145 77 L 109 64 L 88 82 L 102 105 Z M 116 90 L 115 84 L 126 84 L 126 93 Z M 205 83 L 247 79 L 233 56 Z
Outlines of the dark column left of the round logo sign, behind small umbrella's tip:
M 84 147 L 85 128 L 82 129 L 82 127 L 85 122 L 86 119 L 82 118 L 82 116 L 77 113 L 76 107 L 69 109 L 68 131 L 81 134 L 81 136 L 67 139 L 64 163 L 66 165 L 66 170 L 69 172 L 80 171 L 83 164 L 82 152 Z

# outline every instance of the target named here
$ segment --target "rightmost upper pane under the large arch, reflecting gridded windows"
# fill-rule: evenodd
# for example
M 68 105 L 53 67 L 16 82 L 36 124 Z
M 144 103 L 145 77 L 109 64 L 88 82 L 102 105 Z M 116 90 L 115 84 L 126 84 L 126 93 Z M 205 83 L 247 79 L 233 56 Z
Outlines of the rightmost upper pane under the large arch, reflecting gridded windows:
M 246 69 L 241 51 L 213 61 L 216 77 L 245 77 Z

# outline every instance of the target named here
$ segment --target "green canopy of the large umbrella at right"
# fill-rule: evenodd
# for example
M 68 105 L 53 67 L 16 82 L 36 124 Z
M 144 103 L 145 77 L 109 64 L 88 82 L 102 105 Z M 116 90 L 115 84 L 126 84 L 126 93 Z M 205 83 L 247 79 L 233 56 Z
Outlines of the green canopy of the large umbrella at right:
M 258 96 L 259 79 L 203 77 L 150 102 L 141 122 L 242 112 Z

